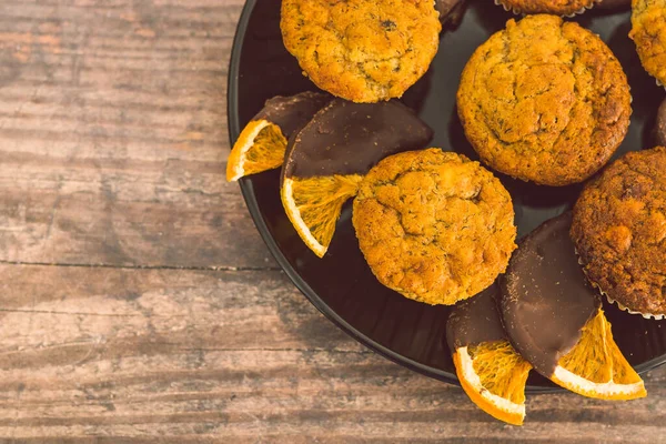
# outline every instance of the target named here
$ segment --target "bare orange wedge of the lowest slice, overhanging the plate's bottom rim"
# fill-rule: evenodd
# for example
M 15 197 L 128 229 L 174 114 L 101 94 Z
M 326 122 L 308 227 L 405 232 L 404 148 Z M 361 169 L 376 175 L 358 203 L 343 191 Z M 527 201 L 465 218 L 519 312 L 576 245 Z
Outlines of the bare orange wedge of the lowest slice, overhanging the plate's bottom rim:
M 453 363 L 463 390 L 474 404 L 500 421 L 523 425 L 525 384 L 532 365 L 508 341 L 458 347 Z

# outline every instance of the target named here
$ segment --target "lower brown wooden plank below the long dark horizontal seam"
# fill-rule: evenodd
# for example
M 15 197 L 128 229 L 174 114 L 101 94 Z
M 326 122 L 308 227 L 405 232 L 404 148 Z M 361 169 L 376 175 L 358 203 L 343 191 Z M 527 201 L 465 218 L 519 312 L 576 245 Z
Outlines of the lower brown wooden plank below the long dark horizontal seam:
M 654 442 L 666 420 L 656 371 L 646 400 L 532 396 L 523 428 L 500 424 L 324 322 L 276 271 L 3 265 L 0 282 L 0 436 Z

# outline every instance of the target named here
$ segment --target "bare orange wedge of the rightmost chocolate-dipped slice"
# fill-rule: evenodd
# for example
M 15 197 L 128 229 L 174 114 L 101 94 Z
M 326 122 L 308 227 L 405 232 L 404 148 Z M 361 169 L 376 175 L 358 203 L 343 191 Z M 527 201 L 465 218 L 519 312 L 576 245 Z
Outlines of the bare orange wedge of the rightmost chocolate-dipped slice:
M 604 311 L 587 321 L 581 340 L 563 356 L 551 380 L 583 396 L 635 400 L 647 395 L 638 373 L 624 357 Z

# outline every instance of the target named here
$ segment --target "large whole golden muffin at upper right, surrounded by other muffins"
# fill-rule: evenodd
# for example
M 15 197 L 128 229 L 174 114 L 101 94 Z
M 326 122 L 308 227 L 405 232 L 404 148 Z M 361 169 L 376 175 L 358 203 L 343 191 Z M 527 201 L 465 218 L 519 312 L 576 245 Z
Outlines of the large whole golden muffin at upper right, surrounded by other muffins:
M 528 16 L 472 56 L 457 92 L 465 134 L 492 168 L 545 185 L 581 182 L 626 135 L 629 85 L 608 47 L 555 16 Z

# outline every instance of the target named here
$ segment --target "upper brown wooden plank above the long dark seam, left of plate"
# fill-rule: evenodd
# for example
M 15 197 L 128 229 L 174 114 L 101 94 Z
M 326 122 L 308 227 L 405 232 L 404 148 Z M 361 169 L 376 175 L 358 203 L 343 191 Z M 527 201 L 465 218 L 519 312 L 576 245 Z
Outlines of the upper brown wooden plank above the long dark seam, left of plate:
M 0 260 L 274 266 L 224 179 L 242 3 L 0 2 Z

